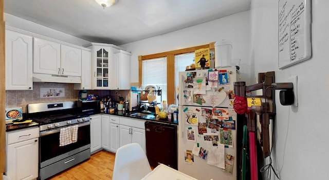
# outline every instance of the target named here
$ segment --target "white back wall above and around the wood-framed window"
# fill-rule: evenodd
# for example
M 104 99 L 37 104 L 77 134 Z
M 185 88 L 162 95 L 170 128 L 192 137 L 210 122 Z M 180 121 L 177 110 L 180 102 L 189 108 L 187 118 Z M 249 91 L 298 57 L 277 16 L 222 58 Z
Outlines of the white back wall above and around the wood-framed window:
M 173 22 L 175 23 L 175 22 Z M 233 14 L 211 22 L 121 45 L 132 52 L 131 81 L 138 82 L 138 56 L 219 42 L 232 42 L 232 59 L 241 59 L 242 80 L 250 76 L 250 14 Z

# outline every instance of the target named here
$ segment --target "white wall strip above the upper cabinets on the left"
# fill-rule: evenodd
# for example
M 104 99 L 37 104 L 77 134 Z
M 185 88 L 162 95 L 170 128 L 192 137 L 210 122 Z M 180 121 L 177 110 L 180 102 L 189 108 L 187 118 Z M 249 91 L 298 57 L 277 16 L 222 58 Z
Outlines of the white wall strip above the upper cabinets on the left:
M 4 14 L 5 14 L 5 22 L 6 25 L 8 26 L 23 29 L 36 34 L 44 35 L 49 38 L 61 40 L 78 46 L 83 46 L 89 43 L 89 41 L 74 37 L 73 35 L 69 35 L 58 30 L 48 28 L 46 26 L 42 26 L 40 24 L 36 24 L 32 21 L 24 20 L 20 17 L 11 14 L 7 14 L 7 13 Z

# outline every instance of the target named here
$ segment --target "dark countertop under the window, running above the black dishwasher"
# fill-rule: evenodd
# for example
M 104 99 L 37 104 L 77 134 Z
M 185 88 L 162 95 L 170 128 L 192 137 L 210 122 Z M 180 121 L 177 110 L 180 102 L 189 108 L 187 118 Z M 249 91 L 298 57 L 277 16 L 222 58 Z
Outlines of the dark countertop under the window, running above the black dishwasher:
M 147 121 L 152 121 L 152 122 L 178 125 L 178 122 L 168 121 L 167 119 L 160 119 L 159 117 L 155 117 L 153 114 L 150 114 L 150 115 L 147 115 L 147 116 L 132 116 L 131 114 L 123 113 L 123 111 L 117 111 L 117 112 L 114 112 L 114 113 L 104 113 L 104 111 L 101 111 L 101 114 L 108 114 L 108 115 L 134 118 L 134 119 L 139 119 L 139 120 L 147 120 Z

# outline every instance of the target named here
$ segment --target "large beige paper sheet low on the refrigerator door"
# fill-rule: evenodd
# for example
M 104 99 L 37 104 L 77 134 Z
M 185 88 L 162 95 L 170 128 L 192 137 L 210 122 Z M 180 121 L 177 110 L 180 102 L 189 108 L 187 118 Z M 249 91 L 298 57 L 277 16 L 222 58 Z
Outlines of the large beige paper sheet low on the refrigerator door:
M 209 146 L 207 164 L 219 168 L 225 168 L 225 148 L 224 145 Z

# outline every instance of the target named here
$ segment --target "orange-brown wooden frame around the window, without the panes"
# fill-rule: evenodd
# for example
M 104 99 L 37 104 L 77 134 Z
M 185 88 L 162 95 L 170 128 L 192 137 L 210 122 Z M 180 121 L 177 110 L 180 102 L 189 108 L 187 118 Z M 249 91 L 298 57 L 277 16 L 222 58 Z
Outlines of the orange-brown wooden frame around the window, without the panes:
M 167 52 L 155 53 L 153 55 L 138 56 L 138 82 L 139 86 L 142 86 L 142 62 L 157 58 L 167 58 L 167 102 L 168 104 L 175 103 L 175 56 L 182 55 L 185 53 L 191 53 L 195 50 L 202 48 L 215 49 L 215 42 L 209 44 L 188 47 L 184 49 L 177 49 Z

